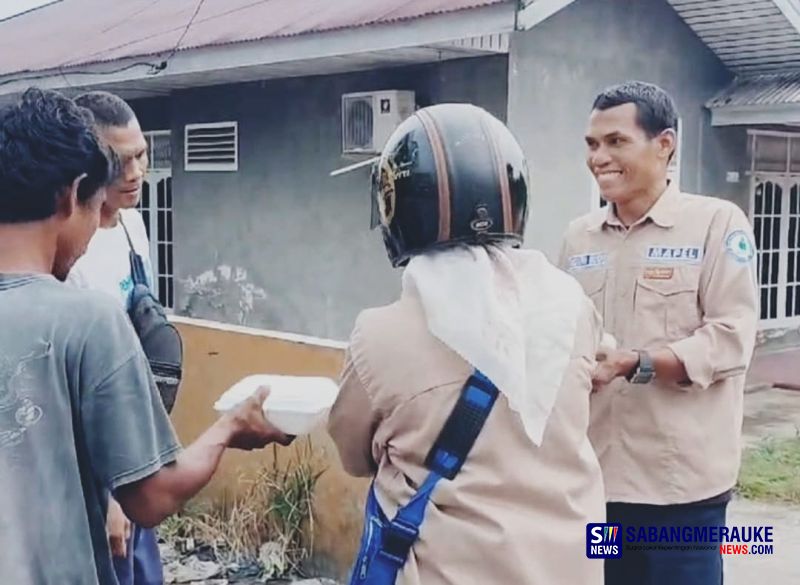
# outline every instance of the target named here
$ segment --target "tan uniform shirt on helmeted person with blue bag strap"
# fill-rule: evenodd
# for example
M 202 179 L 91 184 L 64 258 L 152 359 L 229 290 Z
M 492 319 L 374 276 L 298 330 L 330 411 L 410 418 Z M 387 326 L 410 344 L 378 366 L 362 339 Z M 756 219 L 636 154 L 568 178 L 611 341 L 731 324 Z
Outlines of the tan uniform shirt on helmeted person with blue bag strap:
M 588 522 L 605 518 L 587 437 L 599 317 L 587 301 L 541 447 L 501 394 L 453 481 L 442 480 L 400 585 L 600 585 L 586 558 Z M 342 463 L 375 477 L 389 518 L 428 474 L 424 460 L 472 369 L 427 329 L 414 297 L 356 323 L 329 430 Z

